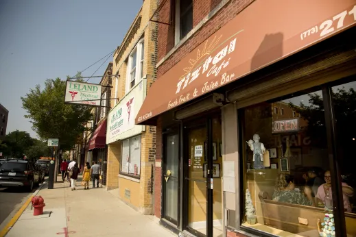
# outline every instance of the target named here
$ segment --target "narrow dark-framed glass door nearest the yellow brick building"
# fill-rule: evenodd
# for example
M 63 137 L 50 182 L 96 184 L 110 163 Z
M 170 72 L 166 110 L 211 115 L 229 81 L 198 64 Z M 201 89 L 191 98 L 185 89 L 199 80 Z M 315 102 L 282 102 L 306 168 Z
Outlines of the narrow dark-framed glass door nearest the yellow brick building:
M 163 168 L 163 218 L 178 225 L 179 136 L 165 136 L 165 167 Z

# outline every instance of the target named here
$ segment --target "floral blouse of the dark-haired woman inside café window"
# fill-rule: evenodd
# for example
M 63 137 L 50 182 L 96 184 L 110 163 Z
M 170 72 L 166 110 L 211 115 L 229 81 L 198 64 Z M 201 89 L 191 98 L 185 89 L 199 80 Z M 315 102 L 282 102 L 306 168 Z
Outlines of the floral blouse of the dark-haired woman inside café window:
M 296 190 L 274 190 L 272 195 L 273 201 L 279 201 L 281 203 L 292 203 L 299 205 L 313 205 L 313 201 L 310 201 L 301 192 Z

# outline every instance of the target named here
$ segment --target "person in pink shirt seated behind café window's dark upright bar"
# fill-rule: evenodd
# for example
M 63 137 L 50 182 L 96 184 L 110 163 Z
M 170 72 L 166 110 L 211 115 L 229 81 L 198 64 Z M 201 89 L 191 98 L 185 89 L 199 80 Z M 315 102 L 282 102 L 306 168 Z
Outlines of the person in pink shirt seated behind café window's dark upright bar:
M 325 184 L 322 184 L 318 188 L 318 192 L 316 194 L 316 198 L 318 202 L 322 202 L 324 205 L 326 205 L 326 200 L 325 197 L 329 194 L 329 197 L 332 201 L 333 193 L 331 191 L 331 173 L 330 171 L 325 172 L 324 174 L 324 179 L 325 179 Z M 353 197 L 353 188 L 348 186 L 346 183 L 342 182 L 342 197 L 344 199 L 344 208 L 346 212 L 351 212 L 352 208 L 350 205 L 350 200 L 348 199 L 349 197 Z

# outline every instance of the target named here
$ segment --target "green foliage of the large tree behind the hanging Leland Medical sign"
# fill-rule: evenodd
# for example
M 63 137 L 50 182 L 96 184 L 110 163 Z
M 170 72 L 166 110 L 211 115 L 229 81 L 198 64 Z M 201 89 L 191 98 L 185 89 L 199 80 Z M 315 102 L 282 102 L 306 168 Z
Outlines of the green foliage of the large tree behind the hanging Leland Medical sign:
M 81 77 L 80 73 L 77 76 Z M 64 104 L 65 84 L 60 78 L 47 79 L 43 90 L 36 85 L 21 100 L 38 136 L 58 138 L 61 149 L 70 149 L 93 115 L 91 107 Z

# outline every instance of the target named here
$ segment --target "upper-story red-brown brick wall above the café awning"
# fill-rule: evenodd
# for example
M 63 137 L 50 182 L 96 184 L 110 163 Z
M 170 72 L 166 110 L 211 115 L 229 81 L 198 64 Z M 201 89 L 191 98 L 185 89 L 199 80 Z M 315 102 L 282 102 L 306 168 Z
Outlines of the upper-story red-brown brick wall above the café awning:
M 194 0 L 193 1 L 193 27 L 211 12 L 222 0 Z M 244 10 L 254 0 L 231 0 L 200 28 L 184 45 L 177 49 L 163 64 L 158 67 L 157 78 L 166 73 L 177 64 L 185 55 L 198 47 L 206 38 L 215 33 L 223 25 L 232 20 L 241 10 Z M 169 22 L 169 1 L 161 8 L 159 20 Z M 172 9 L 173 10 L 173 9 Z M 174 47 L 174 19 L 171 25 L 158 26 L 158 62 Z

